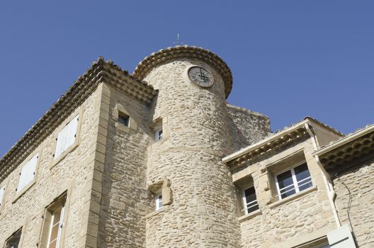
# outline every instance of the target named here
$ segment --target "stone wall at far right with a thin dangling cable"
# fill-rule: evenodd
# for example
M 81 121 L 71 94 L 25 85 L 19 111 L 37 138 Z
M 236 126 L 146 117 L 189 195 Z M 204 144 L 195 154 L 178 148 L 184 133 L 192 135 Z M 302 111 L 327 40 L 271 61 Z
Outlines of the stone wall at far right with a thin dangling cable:
M 351 230 L 353 230 L 358 247 L 373 247 L 374 245 L 374 161 L 365 162 L 360 166 L 339 172 L 339 178 L 335 177 L 336 171 L 331 173 L 334 178 L 334 190 L 336 192 L 336 208 L 342 225 L 349 225 L 347 208 L 349 191 L 351 192 Z M 346 186 L 348 188 L 346 188 Z

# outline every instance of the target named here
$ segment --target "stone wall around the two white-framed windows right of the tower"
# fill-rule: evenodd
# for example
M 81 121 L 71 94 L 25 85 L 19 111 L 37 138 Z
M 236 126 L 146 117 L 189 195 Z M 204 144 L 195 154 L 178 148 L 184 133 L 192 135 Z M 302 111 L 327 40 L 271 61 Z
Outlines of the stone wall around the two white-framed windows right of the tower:
M 293 247 L 334 230 L 334 215 L 322 171 L 312 157 L 313 151 L 312 140 L 300 137 L 292 144 L 263 154 L 254 162 L 249 162 L 247 167 L 234 172 L 239 204 L 243 208 L 242 185 L 252 180 L 260 208 L 256 213 L 240 214 L 242 247 Z M 313 186 L 279 200 L 276 197 L 274 174 L 302 161 L 307 162 Z

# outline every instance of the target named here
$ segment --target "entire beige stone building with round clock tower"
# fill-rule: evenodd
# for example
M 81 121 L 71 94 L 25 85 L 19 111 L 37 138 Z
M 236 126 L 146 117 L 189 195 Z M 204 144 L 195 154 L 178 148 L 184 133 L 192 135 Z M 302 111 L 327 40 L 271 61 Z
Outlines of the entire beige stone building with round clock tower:
M 198 47 L 99 58 L 0 160 L 0 247 L 374 247 L 373 138 L 271 133 Z

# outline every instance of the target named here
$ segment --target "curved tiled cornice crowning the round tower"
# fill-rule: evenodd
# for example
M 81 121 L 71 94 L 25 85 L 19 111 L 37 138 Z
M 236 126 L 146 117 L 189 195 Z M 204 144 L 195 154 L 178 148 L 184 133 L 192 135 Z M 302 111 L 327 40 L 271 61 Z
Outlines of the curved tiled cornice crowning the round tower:
M 149 57 L 145 57 L 145 59 L 137 65 L 133 75 L 142 80 L 145 78 L 147 73 L 155 66 L 181 57 L 200 60 L 214 68 L 221 75 L 223 81 L 225 82 L 226 98 L 229 96 L 229 93 L 232 89 L 231 70 L 220 57 L 201 47 L 179 45 L 176 47 L 168 47 L 164 50 L 159 50 L 159 52 L 154 52 Z

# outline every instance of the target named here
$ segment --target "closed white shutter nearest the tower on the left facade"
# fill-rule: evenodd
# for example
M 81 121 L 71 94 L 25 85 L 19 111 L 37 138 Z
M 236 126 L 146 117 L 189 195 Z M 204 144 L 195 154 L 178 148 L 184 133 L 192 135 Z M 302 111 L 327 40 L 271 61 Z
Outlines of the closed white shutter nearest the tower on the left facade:
M 62 128 L 60 133 L 57 135 L 55 159 L 57 159 L 57 157 L 66 151 L 67 148 L 74 144 L 77 137 L 78 118 L 79 115 L 77 115 L 64 128 Z

